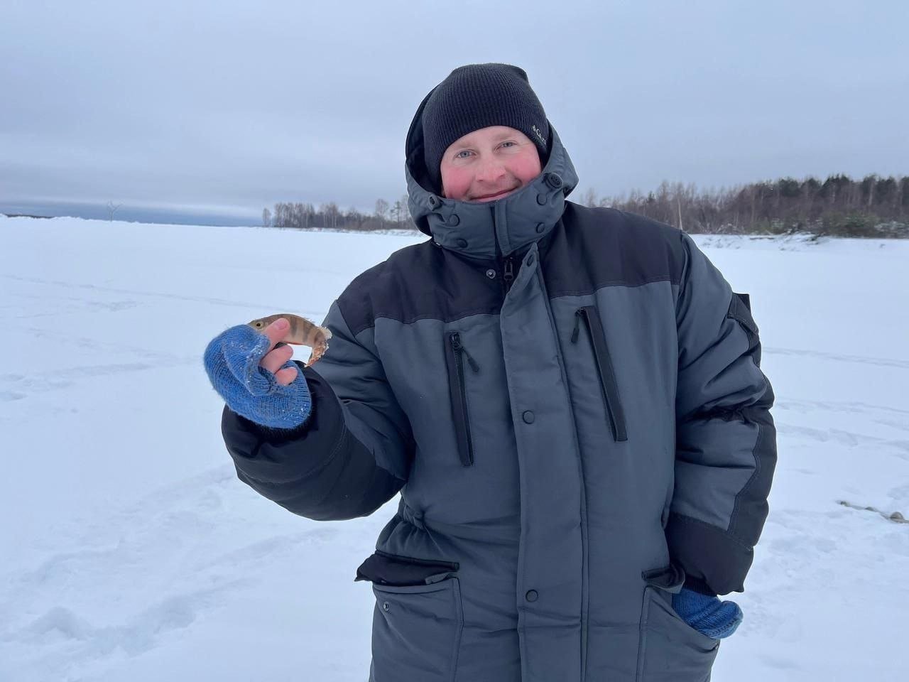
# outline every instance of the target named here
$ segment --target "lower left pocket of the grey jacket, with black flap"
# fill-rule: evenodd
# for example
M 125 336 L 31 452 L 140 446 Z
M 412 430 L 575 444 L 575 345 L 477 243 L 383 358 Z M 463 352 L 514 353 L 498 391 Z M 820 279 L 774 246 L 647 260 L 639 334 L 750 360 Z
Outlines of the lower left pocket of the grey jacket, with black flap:
M 357 570 L 375 594 L 370 682 L 453 682 L 464 629 L 457 564 L 376 553 Z

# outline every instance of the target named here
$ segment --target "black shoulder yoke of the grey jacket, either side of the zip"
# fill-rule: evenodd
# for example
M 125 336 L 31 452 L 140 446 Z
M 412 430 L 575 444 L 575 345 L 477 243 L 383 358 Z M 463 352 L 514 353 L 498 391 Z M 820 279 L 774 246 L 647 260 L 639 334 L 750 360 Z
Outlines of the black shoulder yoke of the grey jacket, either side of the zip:
M 565 203 L 562 220 L 539 242 L 549 296 L 584 296 L 603 286 L 678 283 L 682 233 L 612 208 Z M 487 272 L 494 270 L 494 276 Z M 354 335 L 376 317 L 403 324 L 497 315 L 504 300 L 502 264 L 437 246 L 405 246 L 345 288 L 338 306 Z

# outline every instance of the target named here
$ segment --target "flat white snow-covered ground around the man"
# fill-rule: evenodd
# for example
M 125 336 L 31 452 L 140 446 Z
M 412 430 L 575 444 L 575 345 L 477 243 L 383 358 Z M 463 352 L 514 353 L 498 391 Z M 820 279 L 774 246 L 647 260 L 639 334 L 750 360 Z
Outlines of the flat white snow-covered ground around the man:
M 0 681 L 365 680 L 353 578 L 396 501 L 256 496 L 201 356 L 424 239 L 0 217 Z M 909 679 L 909 524 L 864 509 L 909 517 L 909 242 L 696 239 L 752 296 L 779 433 L 714 680 Z

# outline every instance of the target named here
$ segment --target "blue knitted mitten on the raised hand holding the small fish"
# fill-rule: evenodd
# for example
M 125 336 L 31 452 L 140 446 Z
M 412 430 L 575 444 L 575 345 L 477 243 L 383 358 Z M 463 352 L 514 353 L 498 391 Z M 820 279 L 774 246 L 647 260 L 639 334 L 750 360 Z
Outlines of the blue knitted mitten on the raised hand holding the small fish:
M 297 377 L 281 386 L 275 375 L 259 366 L 268 352 L 268 336 L 249 325 L 232 326 L 205 348 L 205 371 L 228 407 L 256 424 L 272 428 L 302 426 L 309 417 L 309 386 L 293 360 Z

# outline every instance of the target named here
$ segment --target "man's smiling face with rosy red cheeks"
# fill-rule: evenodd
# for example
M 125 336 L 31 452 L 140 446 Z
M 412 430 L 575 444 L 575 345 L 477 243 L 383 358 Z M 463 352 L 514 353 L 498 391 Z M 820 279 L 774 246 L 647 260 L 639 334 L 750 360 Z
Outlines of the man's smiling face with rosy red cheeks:
M 459 201 L 495 201 L 539 176 L 540 155 L 527 135 L 492 125 L 454 141 L 442 156 L 442 194 Z

